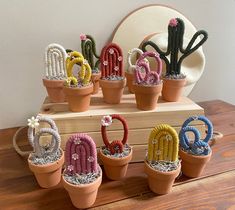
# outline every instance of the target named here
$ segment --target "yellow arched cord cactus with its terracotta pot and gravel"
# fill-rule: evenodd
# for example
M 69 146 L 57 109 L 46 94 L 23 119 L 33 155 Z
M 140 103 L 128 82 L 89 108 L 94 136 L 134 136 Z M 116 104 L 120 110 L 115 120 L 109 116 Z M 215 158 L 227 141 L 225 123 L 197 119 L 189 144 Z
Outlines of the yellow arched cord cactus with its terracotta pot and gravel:
M 149 188 L 154 193 L 169 193 L 175 178 L 180 174 L 178 147 L 178 134 L 171 126 L 161 124 L 150 133 L 145 173 L 148 175 Z

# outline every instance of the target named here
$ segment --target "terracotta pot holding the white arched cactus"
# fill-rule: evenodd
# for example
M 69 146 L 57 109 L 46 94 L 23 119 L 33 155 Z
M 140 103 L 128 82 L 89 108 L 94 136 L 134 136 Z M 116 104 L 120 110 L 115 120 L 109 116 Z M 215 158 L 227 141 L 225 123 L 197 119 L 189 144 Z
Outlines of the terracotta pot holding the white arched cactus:
M 43 85 L 47 89 L 47 94 L 50 101 L 54 103 L 62 103 L 65 101 L 65 94 L 63 91 L 64 80 L 48 80 L 43 79 Z

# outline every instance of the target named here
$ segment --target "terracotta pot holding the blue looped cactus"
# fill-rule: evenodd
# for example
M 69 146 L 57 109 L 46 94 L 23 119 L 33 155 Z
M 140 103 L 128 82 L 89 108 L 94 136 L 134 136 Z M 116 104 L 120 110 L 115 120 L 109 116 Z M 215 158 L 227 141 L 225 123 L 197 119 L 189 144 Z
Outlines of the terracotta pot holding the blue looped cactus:
M 179 156 L 182 159 L 183 174 L 191 178 L 199 177 L 206 167 L 207 162 L 210 161 L 211 155 L 212 151 L 208 155 L 197 156 L 188 154 L 180 149 Z

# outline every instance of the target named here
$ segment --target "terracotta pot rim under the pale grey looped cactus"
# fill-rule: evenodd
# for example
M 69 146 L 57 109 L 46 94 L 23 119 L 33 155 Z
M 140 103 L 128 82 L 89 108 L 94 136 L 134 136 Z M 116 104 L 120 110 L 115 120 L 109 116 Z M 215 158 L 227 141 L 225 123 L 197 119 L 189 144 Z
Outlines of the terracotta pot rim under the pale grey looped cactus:
M 31 154 L 28 157 L 28 164 L 30 165 L 30 169 L 32 169 L 35 173 L 49 173 L 51 171 L 55 171 L 59 167 L 61 167 L 64 164 L 64 151 L 60 148 L 61 156 L 58 160 L 52 163 L 42 164 L 42 165 L 36 165 L 34 164 L 29 158 Z M 50 169 L 51 168 L 51 169 Z M 45 170 L 48 169 L 46 172 Z M 41 172 L 43 170 L 43 172 Z

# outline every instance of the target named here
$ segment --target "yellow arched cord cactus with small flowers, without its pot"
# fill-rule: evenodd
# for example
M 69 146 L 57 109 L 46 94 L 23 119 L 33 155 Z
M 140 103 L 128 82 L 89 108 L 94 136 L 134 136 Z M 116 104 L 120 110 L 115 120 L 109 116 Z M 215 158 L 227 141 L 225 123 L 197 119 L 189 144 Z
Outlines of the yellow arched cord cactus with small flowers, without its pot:
M 148 161 L 177 161 L 179 138 L 176 130 L 170 125 L 156 126 L 148 140 Z

